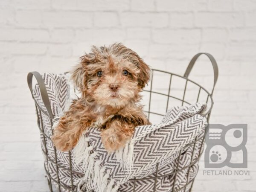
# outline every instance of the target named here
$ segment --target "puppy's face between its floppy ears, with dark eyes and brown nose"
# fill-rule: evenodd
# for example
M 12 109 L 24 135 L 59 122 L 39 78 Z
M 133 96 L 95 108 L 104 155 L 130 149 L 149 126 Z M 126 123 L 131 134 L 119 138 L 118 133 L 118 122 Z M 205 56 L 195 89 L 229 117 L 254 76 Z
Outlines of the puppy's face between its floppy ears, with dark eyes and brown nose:
M 87 94 L 100 105 L 117 108 L 137 97 L 140 70 L 125 59 L 112 57 L 87 66 Z

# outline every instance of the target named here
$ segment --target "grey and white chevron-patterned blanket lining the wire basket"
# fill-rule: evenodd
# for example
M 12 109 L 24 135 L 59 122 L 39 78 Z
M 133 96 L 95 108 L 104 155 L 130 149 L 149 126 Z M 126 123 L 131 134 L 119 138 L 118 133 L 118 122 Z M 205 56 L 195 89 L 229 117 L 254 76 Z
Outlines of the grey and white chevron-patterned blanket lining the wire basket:
M 45 73 L 43 75 L 49 95 L 52 113 L 58 117 L 68 109 L 73 87 L 67 76 Z M 46 111 L 41 99 L 38 85 L 35 85 L 34 98 L 38 105 Z M 55 180 L 64 186 L 72 186 L 76 191 L 89 192 L 151 192 L 154 182 L 159 192 L 179 189 L 198 172 L 198 164 L 190 169 L 183 169 L 176 175 L 138 180 L 134 186 L 131 179 L 150 178 L 167 175 L 177 169 L 187 167 L 198 158 L 201 141 L 189 145 L 197 136 L 204 134 L 206 119 L 202 117 L 206 105 L 196 103 L 186 107 L 173 107 L 163 117 L 160 124 L 139 126 L 125 148 L 108 154 L 102 145 L 100 131 L 89 128 L 79 140 L 77 146 L 68 152 L 56 151 L 59 168 L 49 160 L 45 160 L 45 169 Z M 48 116 L 42 113 L 44 133 L 52 136 L 52 125 Z M 45 145 L 44 145 L 45 144 Z M 52 142 L 41 135 L 41 147 L 47 156 L 55 161 L 55 150 Z M 45 148 L 46 147 L 46 148 Z M 192 152 L 194 151 L 194 152 Z M 178 163 L 180 156 L 180 163 Z M 69 158 L 72 159 L 71 165 Z M 156 166 L 157 165 L 157 166 Z M 63 168 L 62 168 L 63 167 Z M 66 169 L 65 169 L 66 168 Z M 72 173 L 70 174 L 70 168 Z M 157 175 L 156 175 L 156 169 Z M 181 191 L 188 191 L 190 186 Z M 61 187 L 61 191 L 67 191 Z

